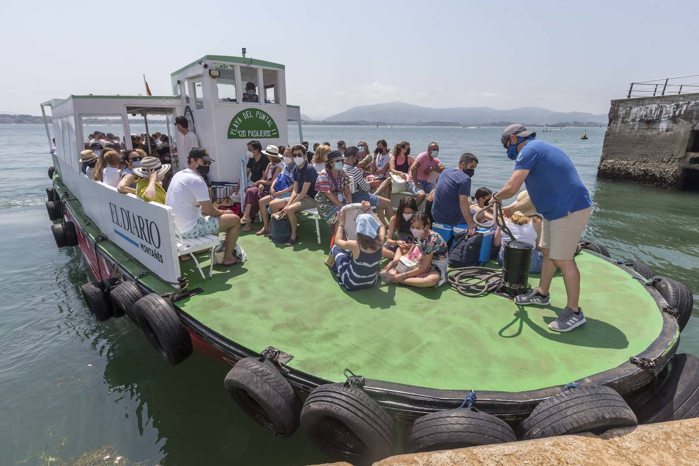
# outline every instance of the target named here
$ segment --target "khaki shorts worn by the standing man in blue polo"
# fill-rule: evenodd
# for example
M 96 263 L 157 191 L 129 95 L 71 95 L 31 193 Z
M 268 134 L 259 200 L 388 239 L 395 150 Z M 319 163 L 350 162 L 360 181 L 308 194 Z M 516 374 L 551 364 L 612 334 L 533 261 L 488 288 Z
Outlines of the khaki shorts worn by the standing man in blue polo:
M 590 219 L 592 207 L 568 212 L 563 218 L 548 221 L 544 219 L 541 226 L 539 247 L 549 249 L 549 259 L 572 259 L 580 242 L 580 235 Z

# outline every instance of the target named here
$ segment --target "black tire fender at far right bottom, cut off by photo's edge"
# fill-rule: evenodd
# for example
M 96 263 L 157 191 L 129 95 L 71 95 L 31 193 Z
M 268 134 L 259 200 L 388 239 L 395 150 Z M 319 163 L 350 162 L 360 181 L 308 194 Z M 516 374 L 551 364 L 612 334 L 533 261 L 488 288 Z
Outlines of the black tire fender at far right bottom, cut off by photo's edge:
M 629 398 L 638 423 L 679 421 L 699 416 L 699 358 L 675 354 L 658 390 L 653 384 Z

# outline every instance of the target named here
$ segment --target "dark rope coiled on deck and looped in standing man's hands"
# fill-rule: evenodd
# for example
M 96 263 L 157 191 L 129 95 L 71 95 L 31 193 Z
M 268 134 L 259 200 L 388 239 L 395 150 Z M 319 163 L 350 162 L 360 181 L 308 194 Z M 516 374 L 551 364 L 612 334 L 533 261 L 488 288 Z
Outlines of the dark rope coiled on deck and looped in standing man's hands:
M 492 228 L 494 224 L 498 224 L 500 229 L 514 241 L 514 235 L 505 224 L 505 215 L 503 214 L 503 206 L 500 203 L 495 204 L 495 215 L 489 222 L 481 223 L 476 217 L 480 212 L 487 210 L 490 206 L 486 205 L 480 210 L 477 210 L 473 215 L 473 220 L 481 228 Z M 447 282 L 454 290 L 459 291 L 459 294 L 467 298 L 477 298 L 488 293 L 495 293 L 503 286 L 503 271 L 496 268 L 488 267 L 458 267 L 449 270 L 447 274 Z

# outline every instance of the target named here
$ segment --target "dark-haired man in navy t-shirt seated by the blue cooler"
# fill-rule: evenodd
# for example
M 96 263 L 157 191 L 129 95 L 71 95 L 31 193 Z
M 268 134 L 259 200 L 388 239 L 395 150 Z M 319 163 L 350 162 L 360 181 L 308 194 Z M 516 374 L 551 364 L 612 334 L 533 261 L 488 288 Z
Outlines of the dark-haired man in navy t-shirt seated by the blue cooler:
M 432 218 L 440 224 L 467 224 L 470 233 L 476 228 L 470 211 L 471 177 L 478 166 L 475 155 L 466 152 L 461 155 L 456 168 L 445 168 L 437 180 Z

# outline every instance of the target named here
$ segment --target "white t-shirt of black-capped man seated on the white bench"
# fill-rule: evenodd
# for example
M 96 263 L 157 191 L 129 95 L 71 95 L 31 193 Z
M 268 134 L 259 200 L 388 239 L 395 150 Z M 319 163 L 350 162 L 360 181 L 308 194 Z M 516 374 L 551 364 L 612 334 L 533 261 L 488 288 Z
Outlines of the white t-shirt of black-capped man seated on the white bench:
M 165 197 L 165 205 L 173 208 L 175 228 L 185 233 L 196 225 L 201 217 L 199 203 L 211 201 L 209 189 L 203 177 L 192 168 L 185 168 L 173 175 Z

